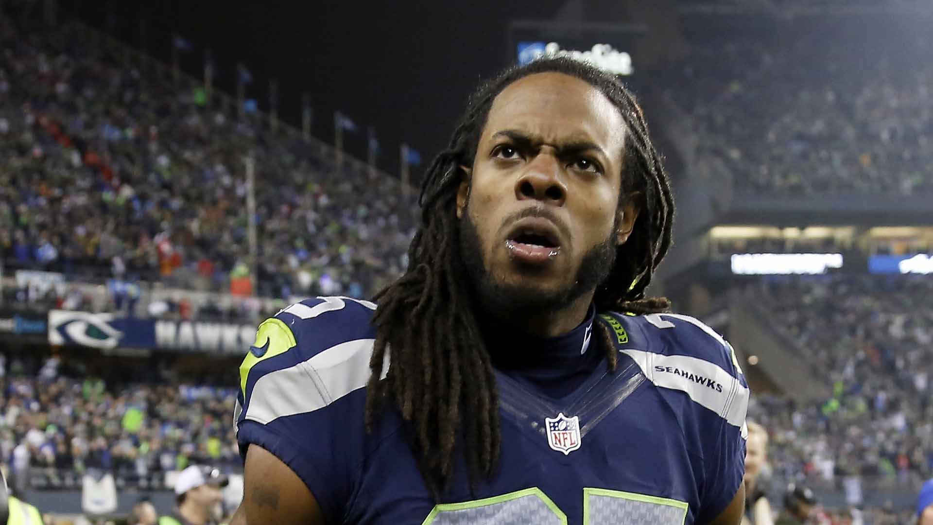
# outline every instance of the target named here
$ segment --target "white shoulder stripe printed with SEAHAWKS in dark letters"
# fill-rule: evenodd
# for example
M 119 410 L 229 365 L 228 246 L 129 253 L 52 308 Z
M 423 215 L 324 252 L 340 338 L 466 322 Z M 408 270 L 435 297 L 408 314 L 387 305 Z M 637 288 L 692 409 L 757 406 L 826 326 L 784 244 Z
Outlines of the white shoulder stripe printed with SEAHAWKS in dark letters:
M 658 387 L 681 390 L 694 403 L 702 404 L 736 427 L 745 426 L 748 389 L 714 362 L 683 355 L 622 348 L 648 380 Z

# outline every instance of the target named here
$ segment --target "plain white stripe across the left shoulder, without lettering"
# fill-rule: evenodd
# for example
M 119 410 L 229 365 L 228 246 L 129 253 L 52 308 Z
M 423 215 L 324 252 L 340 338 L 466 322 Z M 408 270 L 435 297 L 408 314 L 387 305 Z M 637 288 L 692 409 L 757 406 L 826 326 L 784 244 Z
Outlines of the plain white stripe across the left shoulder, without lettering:
M 244 419 L 267 424 L 273 419 L 324 408 L 369 381 L 375 339 L 357 339 L 327 348 L 304 362 L 261 376 L 253 386 Z M 384 378 L 388 371 L 385 359 Z

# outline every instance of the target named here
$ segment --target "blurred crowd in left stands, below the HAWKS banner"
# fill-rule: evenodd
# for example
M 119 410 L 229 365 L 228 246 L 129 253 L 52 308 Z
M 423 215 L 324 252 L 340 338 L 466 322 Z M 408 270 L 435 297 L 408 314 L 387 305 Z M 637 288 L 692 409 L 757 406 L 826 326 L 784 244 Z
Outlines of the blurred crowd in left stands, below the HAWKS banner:
M 17 490 L 74 489 L 92 470 L 118 488 L 164 488 L 188 464 L 241 468 L 232 434 L 234 388 L 173 381 L 108 385 L 63 374 L 62 360 L 0 357 L 0 453 Z

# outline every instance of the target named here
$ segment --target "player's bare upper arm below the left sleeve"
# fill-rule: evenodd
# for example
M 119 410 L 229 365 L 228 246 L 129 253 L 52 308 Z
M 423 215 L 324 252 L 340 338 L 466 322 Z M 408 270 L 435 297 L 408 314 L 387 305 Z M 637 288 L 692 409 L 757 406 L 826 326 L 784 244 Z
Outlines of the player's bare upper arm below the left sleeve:
M 268 450 L 250 445 L 244 466 L 243 503 L 230 525 L 324 525 L 311 490 Z

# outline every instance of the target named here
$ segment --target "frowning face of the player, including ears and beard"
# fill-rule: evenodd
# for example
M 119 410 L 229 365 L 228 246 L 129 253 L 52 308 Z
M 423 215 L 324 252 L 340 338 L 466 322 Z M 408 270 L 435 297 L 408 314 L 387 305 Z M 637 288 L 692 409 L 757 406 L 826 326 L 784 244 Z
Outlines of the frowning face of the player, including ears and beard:
M 637 216 L 620 206 L 625 129 L 602 92 L 560 73 L 495 97 L 457 193 L 461 253 L 484 306 L 552 310 L 608 276 Z

